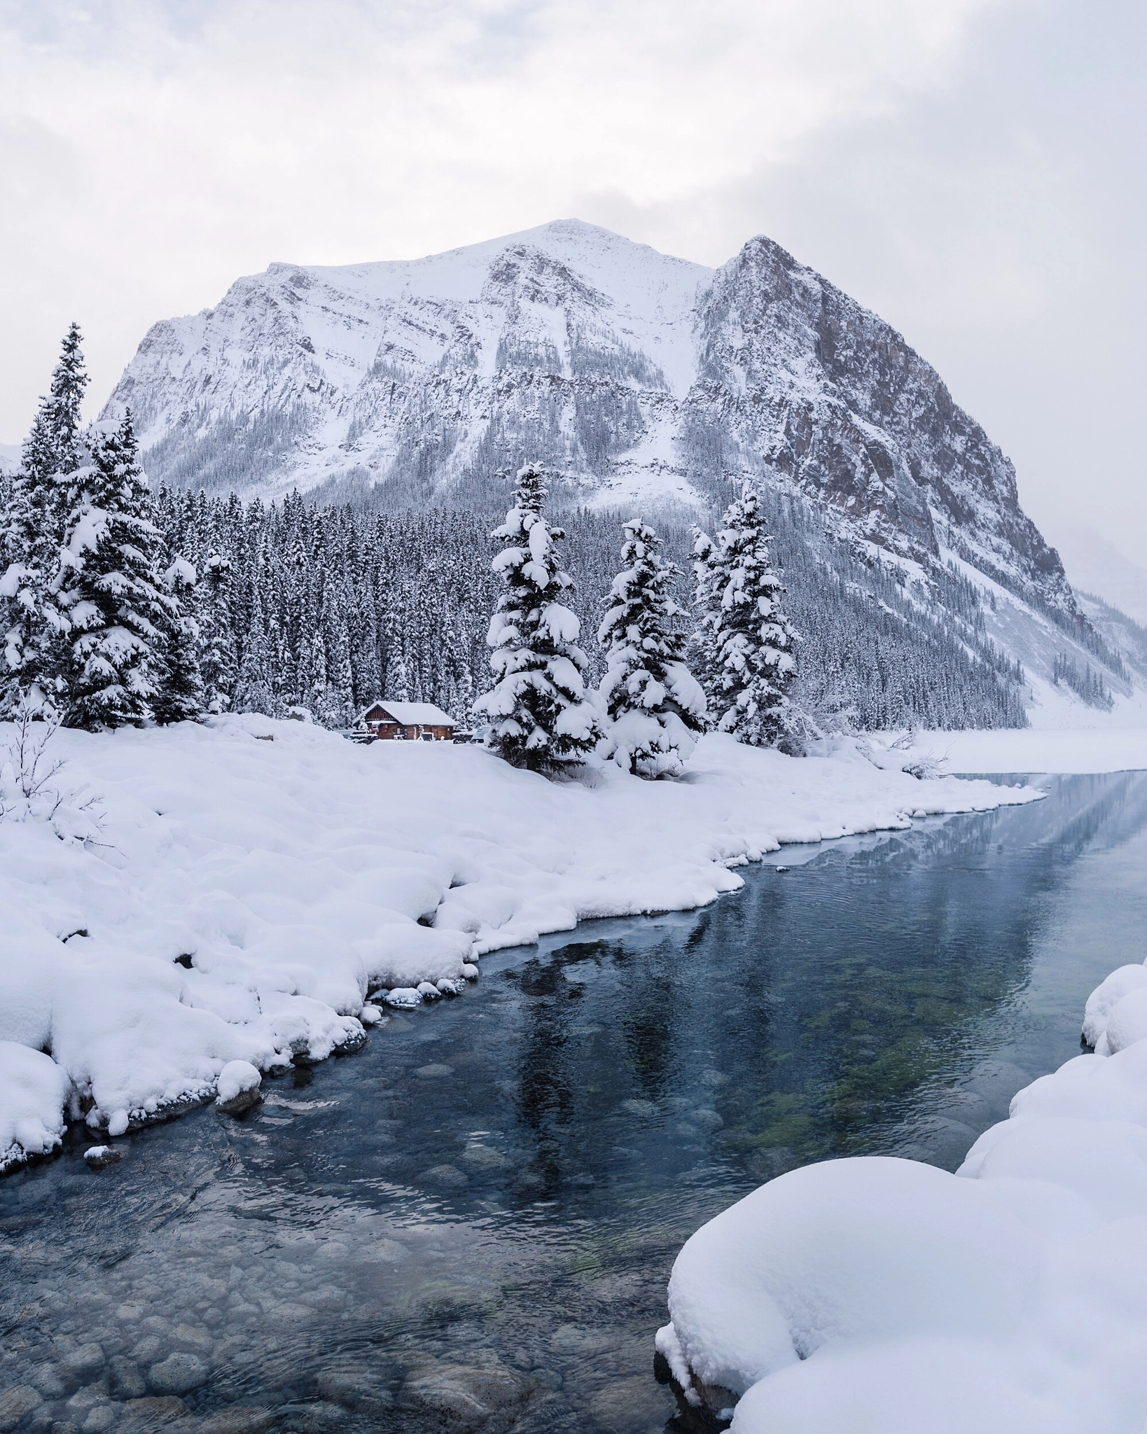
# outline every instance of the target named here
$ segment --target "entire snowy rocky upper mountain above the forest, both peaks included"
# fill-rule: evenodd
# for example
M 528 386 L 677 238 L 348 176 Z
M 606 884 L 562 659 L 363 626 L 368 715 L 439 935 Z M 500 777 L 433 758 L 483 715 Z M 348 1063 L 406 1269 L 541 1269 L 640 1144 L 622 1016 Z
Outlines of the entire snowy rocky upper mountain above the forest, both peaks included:
M 754 475 L 839 531 L 955 554 L 1074 618 L 1015 472 L 875 314 L 766 238 L 720 270 L 561 221 L 414 262 L 237 281 L 156 324 L 130 404 L 153 476 L 272 496 L 487 500 L 541 457 L 594 505 L 703 505 Z

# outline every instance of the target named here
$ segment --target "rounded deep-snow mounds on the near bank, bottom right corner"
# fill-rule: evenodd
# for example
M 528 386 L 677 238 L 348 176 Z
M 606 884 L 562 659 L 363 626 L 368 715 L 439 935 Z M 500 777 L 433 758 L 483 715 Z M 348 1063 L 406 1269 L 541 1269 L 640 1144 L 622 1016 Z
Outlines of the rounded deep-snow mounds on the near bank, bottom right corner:
M 703 1226 L 657 1336 L 690 1400 L 733 1434 L 1141 1434 L 1147 968 L 1084 1035 L 956 1174 L 822 1162 Z

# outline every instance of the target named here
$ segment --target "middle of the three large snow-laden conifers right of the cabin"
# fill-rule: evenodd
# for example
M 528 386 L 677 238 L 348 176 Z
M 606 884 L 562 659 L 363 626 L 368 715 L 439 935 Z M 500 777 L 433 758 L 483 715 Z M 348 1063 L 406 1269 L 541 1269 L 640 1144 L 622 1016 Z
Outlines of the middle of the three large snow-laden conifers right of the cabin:
M 705 694 L 685 665 L 684 617 L 671 588 L 678 569 L 661 556 L 652 528 L 624 525 L 622 571 L 598 631 L 605 651 L 601 694 L 611 718 L 609 756 L 641 777 L 677 776 L 705 730 Z

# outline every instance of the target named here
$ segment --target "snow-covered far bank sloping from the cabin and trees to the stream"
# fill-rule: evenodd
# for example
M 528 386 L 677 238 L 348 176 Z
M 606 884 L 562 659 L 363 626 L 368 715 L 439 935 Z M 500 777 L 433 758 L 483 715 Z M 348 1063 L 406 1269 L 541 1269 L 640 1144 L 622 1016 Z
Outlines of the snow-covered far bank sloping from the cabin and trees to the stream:
M 264 717 L 53 747 L 54 819 L 0 819 L 0 1166 L 54 1146 L 65 1100 L 119 1134 L 211 1098 L 231 1061 L 354 1045 L 368 994 L 420 999 L 482 952 L 703 905 L 780 843 L 1037 796 L 880 770 L 849 741 L 794 760 L 707 737 L 657 783 Z

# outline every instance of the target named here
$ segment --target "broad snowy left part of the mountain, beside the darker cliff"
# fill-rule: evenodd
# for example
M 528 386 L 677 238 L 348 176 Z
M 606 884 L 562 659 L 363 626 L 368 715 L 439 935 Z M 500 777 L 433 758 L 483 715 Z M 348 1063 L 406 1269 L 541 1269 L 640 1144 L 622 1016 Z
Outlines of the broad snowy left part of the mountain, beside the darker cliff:
M 206 486 L 452 486 L 542 435 L 592 482 L 688 393 L 710 277 L 576 221 L 416 261 L 272 264 L 156 324 L 109 407 L 132 404 L 153 473 Z

